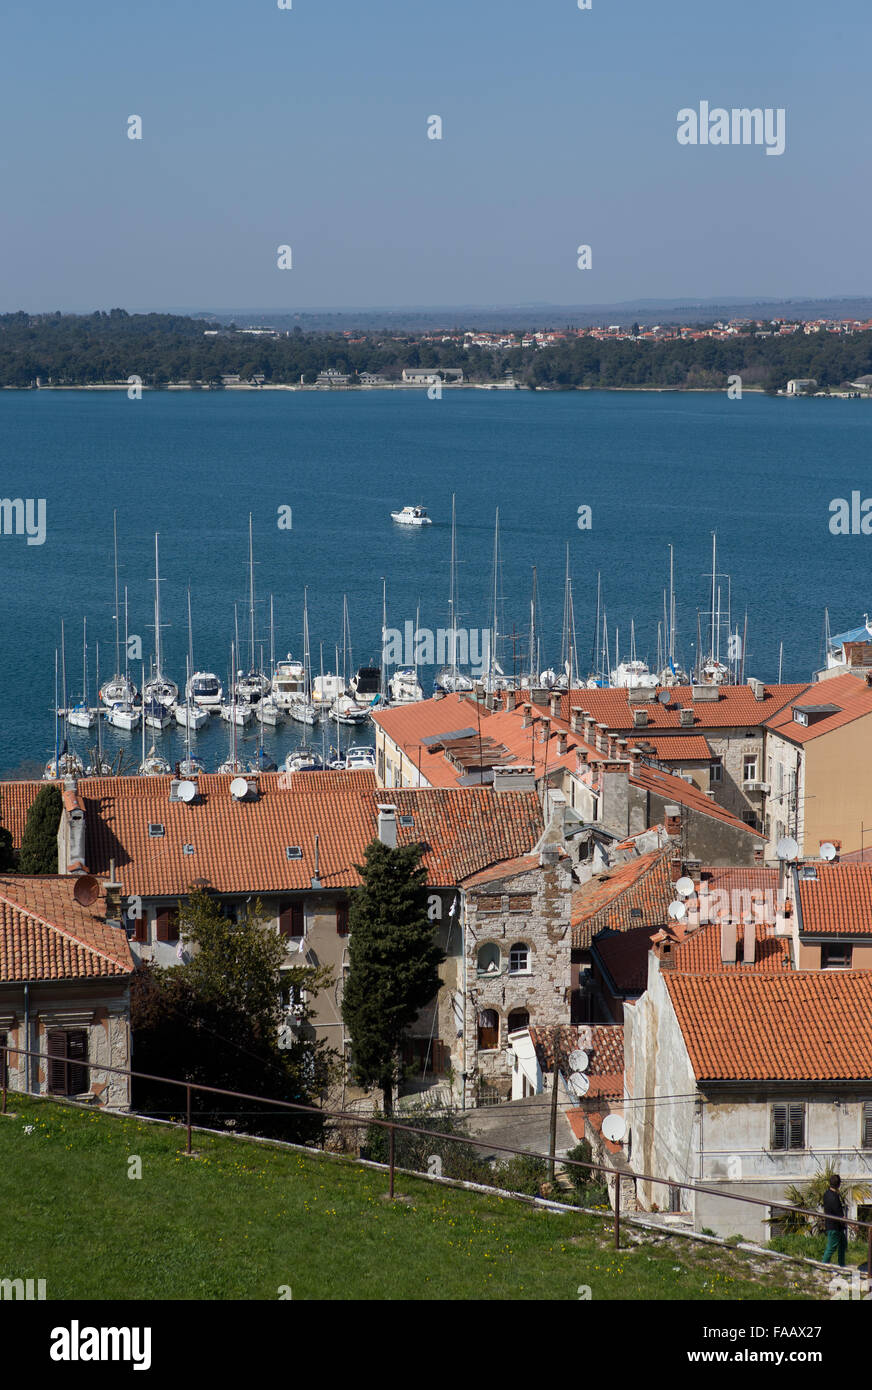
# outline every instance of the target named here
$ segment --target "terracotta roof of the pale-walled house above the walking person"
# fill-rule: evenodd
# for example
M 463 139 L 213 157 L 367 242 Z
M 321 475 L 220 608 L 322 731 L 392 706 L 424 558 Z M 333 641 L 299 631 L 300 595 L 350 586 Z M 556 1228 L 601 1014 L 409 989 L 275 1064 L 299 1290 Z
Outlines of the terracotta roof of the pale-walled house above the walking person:
M 872 970 L 663 981 L 700 1081 L 872 1083 Z

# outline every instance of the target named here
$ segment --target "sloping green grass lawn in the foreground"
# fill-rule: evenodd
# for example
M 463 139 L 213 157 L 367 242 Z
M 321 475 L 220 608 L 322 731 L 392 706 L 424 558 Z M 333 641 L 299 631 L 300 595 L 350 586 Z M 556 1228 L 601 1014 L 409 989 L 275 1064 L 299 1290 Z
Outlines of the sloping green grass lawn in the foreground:
M 60 1298 L 826 1297 L 798 1265 L 350 1162 L 10 1095 L 0 1119 L 0 1276 Z M 31 1129 L 32 1126 L 32 1129 Z M 31 1131 L 28 1133 L 28 1129 Z M 142 1161 L 129 1177 L 128 1159 Z M 285 1295 L 286 1297 L 286 1295 Z

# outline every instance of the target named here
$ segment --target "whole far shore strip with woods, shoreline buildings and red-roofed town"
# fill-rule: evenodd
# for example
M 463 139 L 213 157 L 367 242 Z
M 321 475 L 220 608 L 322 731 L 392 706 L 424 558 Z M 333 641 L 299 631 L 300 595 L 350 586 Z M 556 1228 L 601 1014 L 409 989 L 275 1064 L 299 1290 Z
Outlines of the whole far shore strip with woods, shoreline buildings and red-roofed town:
M 286 316 L 277 316 L 284 321 Z M 0 316 L 0 386 L 718 391 L 869 395 L 872 318 L 303 331 L 178 314 Z

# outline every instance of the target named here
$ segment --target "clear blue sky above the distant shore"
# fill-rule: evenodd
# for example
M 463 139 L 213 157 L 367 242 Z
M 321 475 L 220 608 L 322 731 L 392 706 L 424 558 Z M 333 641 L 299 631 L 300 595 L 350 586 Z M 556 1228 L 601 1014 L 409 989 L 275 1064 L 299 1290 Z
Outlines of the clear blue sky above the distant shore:
M 871 38 L 868 0 L 4 0 L 0 309 L 862 293 Z M 700 100 L 784 107 L 784 154 L 679 146 Z

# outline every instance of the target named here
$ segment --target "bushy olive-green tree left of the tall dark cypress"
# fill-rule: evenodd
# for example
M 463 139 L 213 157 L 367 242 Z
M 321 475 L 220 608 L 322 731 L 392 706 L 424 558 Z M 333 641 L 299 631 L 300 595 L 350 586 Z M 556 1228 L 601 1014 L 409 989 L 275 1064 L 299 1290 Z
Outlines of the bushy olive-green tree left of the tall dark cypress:
M 131 986 L 135 1069 L 196 1086 L 314 1105 L 327 1088 L 334 1054 L 314 1038 L 312 999 L 332 984 L 324 966 L 282 969 L 285 944 L 260 903 L 232 922 L 207 892 L 179 902 L 179 945 L 191 959 L 171 967 L 142 966 Z M 285 1005 L 295 1002 L 295 1036 L 280 1047 Z M 288 1041 L 285 1038 L 285 1041 Z M 178 1087 L 138 1081 L 138 1105 L 179 1115 Z M 200 1123 L 250 1129 L 284 1138 L 310 1138 L 317 1116 L 280 1111 L 256 1101 L 195 1099 Z

